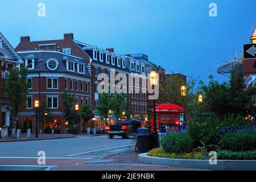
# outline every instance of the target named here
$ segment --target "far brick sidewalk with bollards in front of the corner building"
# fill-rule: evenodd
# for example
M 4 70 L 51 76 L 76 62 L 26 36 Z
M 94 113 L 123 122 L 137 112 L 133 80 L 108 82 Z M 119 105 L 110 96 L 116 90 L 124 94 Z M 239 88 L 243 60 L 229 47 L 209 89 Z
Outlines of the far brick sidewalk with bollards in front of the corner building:
M 38 138 L 35 138 L 35 134 L 31 134 L 31 138 L 27 138 L 27 134 L 21 134 L 21 139 L 9 138 L 1 139 L 0 142 L 19 142 L 19 141 L 30 141 L 30 140 L 46 140 L 46 139 L 62 139 L 62 138 L 74 138 L 74 137 L 97 137 L 101 135 L 87 135 L 87 134 L 38 134 Z

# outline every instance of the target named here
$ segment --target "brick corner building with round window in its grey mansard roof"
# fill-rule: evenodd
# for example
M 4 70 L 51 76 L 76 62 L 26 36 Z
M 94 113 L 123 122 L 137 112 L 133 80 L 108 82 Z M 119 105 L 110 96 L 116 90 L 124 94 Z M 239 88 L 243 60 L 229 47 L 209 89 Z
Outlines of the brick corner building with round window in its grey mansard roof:
M 72 56 L 55 50 L 18 51 L 29 69 L 27 81 L 31 82 L 27 108 L 19 113 L 18 123 L 22 132 L 35 132 L 34 101 L 45 102 L 53 115 L 52 122 L 39 121 L 43 133 L 66 133 L 68 122 L 63 117 L 61 93 L 74 94 L 74 105 L 90 104 L 90 75 L 82 57 Z M 79 133 L 82 123 L 78 123 Z

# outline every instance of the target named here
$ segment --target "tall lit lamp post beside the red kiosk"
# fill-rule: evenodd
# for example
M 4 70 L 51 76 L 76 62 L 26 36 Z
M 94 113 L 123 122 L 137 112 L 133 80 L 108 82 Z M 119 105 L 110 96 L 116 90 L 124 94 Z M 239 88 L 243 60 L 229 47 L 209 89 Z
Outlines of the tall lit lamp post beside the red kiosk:
M 157 75 L 157 71 L 155 71 L 155 69 L 153 68 L 150 75 L 149 75 L 149 79 L 150 79 L 150 84 L 152 86 L 152 89 L 155 89 L 155 86 L 158 85 L 158 75 Z M 153 100 L 153 107 L 154 107 L 154 124 L 153 124 L 153 147 L 156 148 L 158 147 L 158 141 L 157 141 L 157 113 L 155 112 L 155 98 Z

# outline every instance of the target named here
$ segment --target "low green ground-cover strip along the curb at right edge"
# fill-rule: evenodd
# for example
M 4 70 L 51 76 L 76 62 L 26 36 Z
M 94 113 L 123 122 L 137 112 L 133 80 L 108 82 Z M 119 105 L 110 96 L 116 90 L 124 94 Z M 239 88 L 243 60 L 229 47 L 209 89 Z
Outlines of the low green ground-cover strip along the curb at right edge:
M 218 160 L 256 160 L 256 150 L 253 151 L 227 151 L 219 150 L 217 152 Z

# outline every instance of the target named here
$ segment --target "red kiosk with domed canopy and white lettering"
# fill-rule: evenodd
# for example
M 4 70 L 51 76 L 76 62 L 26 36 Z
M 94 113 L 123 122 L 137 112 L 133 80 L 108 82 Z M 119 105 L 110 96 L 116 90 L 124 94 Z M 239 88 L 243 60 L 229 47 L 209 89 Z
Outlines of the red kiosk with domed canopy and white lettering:
M 162 104 L 155 107 L 157 116 L 157 131 L 160 124 L 164 123 L 169 129 L 170 126 L 180 126 L 181 118 L 184 118 L 185 109 L 175 104 Z M 154 109 L 153 109 L 154 112 Z M 182 121 L 183 122 L 183 121 Z M 153 132 L 154 118 L 151 118 L 151 131 Z

